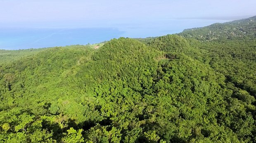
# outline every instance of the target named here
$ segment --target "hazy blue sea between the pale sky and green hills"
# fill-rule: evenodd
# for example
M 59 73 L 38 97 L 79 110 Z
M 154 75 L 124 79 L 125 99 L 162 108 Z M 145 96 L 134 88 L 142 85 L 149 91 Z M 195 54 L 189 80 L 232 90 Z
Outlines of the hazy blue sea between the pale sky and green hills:
M 0 49 L 27 49 L 75 44 L 94 44 L 119 37 L 156 37 L 179 33 L 187 28 L 203 27 L 228 20 L 211 19 L 161 19 L 108 22 L 95 25 L 62 27 L 1 28 Z

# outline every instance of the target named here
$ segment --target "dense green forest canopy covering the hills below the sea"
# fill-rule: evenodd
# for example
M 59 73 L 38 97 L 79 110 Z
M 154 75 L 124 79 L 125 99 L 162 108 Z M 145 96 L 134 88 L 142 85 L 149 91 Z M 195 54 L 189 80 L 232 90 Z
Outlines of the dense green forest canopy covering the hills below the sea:
M 255 21 L 1 50 L 0 142 L 254 143 Z

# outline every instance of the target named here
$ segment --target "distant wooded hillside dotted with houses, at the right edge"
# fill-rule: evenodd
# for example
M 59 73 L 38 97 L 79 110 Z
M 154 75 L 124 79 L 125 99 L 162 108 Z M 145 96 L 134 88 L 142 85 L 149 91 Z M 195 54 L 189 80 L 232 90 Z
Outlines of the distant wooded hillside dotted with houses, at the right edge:
M 255 38 L 256 16 L 226 23 L 215 23 L 203 28 L 186 29 L 179 35 L 201 41 Z

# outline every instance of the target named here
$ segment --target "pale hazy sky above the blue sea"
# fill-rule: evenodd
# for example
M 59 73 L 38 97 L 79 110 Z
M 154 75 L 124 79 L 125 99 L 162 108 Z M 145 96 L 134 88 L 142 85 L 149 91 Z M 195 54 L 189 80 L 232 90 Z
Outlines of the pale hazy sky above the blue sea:
M 0 26 L 253 16 L 255 5 L 256 0 L 0 0 Z

